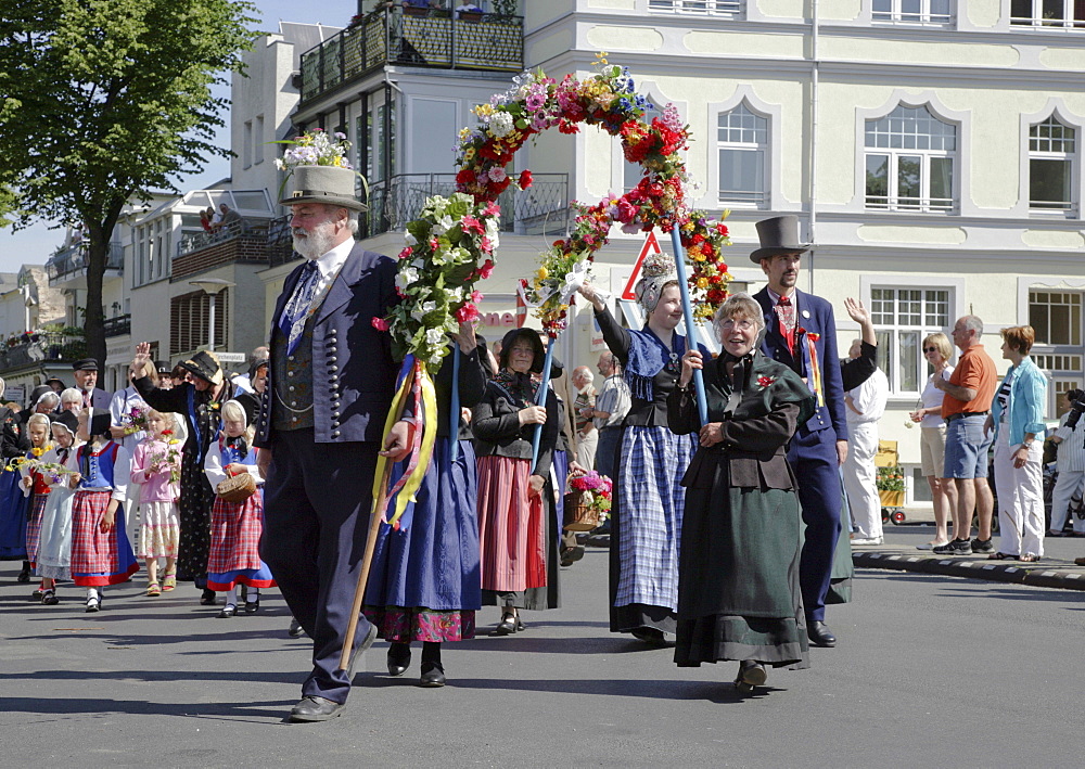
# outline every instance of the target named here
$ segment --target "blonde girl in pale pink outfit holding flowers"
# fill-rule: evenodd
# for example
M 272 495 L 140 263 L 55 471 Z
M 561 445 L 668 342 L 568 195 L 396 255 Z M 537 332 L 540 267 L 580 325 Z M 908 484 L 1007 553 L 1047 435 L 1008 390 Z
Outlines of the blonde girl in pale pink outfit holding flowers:
M 168 411 L 146 413 L 146 438 L 132 453 L 132 483 L 139 485 L 140 527 L 138 556 L 146 565 L 146 594 L 161 595 L 177 587 L 177 547 L 181 521 L 177 500 L 181 488 L 183 438 L 177 435 L 178 420 Z M 158 559 L 166 559 L 162 586 Z

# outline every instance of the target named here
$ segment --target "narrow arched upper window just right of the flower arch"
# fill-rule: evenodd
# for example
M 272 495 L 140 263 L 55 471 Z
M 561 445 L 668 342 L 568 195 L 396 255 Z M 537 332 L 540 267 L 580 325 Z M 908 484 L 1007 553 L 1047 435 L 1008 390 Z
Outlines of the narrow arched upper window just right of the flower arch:
M 745 102 L 720 113 L 716 140 L 719 151 L 719 202 L 763 207 L 768 118 L 750 111 Z

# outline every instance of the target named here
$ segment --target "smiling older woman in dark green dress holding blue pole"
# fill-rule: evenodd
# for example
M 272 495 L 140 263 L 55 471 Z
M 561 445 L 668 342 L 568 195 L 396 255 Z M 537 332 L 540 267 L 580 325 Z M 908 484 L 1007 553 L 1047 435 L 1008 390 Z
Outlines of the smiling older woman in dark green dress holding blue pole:
M 764 315 L 749 295 L 725 302 L 713 325 L 724 351 L 713 360 L 686 353 L 667 399 L 671 430 L 699 437 L 681 482 L 675 663 L 739 661 L 735 682 L 752 691 L 765 682 L 766 665 L 808 665 L 799 592 L 801 517 L 787 445 L 814 413 L 815 400 L 797 374 L 760 351 Z M 695 369 L 704 371 L 704 426 L 691 385 Z

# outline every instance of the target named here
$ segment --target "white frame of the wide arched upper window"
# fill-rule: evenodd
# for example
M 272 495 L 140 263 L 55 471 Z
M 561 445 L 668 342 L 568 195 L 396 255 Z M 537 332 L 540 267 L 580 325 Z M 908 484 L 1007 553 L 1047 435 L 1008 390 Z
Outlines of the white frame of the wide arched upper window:
M 870 146 L 867 144 L 867 131 L 870 124 L 881 123 L 883 120 L 890 120 L 892 124 L 893 113 L 897 110 L 909 110 L 909 111 L 926 111 L 932 119 L 939 123 L 950 126 L 954 128 L 954 148 L 952 150 L 937 149 L 937 148 L 921 148 L 921 146 L 904 146 L 907 140 L 911 136 L 922 137 L 924 134 L 908 134 L 891 131 L 889 136 L 892 140 L 893 137 L 899 136 L 902 146 Z M 894 210 L 894 212 L 918 212 L 923 214 L 956 214 L 959 210 L 959 184 L 958 176 L 961 166 L 960 157 L 958 154 L 958 148 L 960 144 L 960 126 L 952 120 L 945 120 L 937 115 L 937 113 L 930 107 L 928 104 L 897 104 L 890 112 L 876 118 L 868 118 L 864 121 L 863 127 L 863 164 L 860 166 L 860 174 L 864 179 L 864 205 L 867 210 Z M 884 196 L 879 195 L 879 197 L 884 197 L 884 204 L 880 202 L 872 203 L 869 198 L 870 195 L 866 190 L 866 172 L 867 172 L 867 159 L 871 156 L 885 156 L 886 162 L 886 194 Z M 919 196 L 918 197 L 902 197 L 899 194 L 899 188 L 895 184 L 896 180 L 899 178 L 899 163 L 904 157 L 919 157 L 920 163 L 920 176 L 919 176 Z M 932 198 L 931 197 L 931 166 L 935 159 L 948 158 L 952 162 L 954 169 L 953 178 L 950 179 L 949 197 L 944 198 Z M 948 201 L 948 205 L 944 205 L 942 201 Z

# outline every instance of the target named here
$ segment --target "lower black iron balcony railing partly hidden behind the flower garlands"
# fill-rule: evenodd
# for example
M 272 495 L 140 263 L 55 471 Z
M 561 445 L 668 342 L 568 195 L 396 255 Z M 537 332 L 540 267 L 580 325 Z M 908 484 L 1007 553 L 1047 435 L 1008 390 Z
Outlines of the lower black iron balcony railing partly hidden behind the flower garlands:
M 362 214 L 365 236 L 401 230 L 418 216 L 431 195 L 456 191 L 454 174 L 401 174 L 369 188 L 369 212 Z M 522 235 L 564 234 L 569 223 L 569 175 L 536 174 L 526 190 L 510 185 L 497 200 L 501 231 Z

